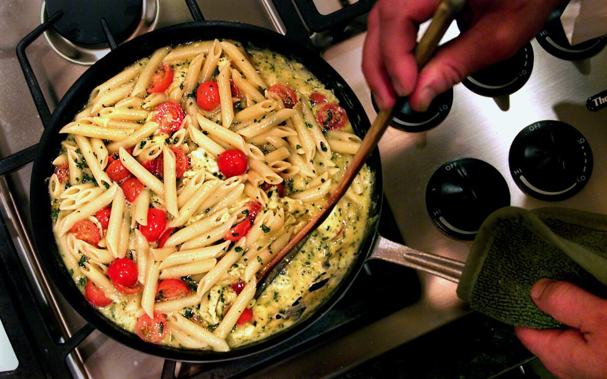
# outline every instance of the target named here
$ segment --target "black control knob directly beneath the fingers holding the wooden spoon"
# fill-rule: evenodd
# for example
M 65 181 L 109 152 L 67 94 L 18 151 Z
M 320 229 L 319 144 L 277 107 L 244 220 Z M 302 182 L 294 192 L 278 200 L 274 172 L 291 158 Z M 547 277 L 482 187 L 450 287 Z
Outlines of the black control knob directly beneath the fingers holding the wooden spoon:
M 373 104 L 375 111 L 378 112 L 379 108 L 375 104 L 373 96 L 371 96 L 371 104 Z M 397 104 L 398 109 L 395 109 L 390 126 L 404 132 L 424 132 L 437 126 L 447 118 L 453 105 L 453 89 L 451 88 L 436 96 L 426 112 L 415 112 L 409 106 L 408 101 Z

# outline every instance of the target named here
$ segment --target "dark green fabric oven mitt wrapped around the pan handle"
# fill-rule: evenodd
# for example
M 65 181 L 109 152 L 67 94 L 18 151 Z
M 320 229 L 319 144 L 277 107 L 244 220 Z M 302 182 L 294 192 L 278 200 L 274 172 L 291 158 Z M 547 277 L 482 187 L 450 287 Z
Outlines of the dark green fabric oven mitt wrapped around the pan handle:
M 472 244 L 457 293 L 507 324 L 563 327 L 531 300 L 541 278 L 607 297 L 607 215 L 555 207 L 493 212 Z

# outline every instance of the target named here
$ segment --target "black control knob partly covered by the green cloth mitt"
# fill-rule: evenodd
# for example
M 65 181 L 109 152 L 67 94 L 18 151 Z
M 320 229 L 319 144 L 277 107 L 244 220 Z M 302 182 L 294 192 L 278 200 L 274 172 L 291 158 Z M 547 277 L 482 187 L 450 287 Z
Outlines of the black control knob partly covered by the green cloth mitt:
M 500 172 L 485 161 L 461 158 L 441 166 L 426 187 L 426 207 L 441 232 L 473 240 L 494 210 L 510 205 L 510 190 Z

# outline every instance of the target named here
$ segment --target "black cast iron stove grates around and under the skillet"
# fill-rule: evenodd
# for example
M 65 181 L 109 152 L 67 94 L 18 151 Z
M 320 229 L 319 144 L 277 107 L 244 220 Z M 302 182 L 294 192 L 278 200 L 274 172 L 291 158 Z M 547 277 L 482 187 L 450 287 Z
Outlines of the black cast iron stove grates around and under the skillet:
M 195 0 L 185 0 L 194 21 L 204 21 L 202 12 Z M 287 25 L 287 35 L 302 44 L 312 47 L 308 30 L 324 30 L 341 25 L 348 19 L 367 12 L 373 1 L 359 1 L 331 15 L 320 15 L 311 0 L 296 1 L 302 18 L 290 1 L 273 0 L 282 22 Z M 33 73 L 25 48 L 49 29 L 63 13 L 55 13 L 46 22 L 39 25 L 32 33 L 25 36 L 17 45 L 17 56 L 25 80 L 29 86 L 42 126 L 50 125 L 51 113 L 42 95 L 38 81 Z M 333 21 L 331 21 L 333 20 Z M 101 20 L 107 42 L 111 49 L 117 46 L 107 23 Z M 0 159 L 0 176 L 15 172 L 33 161 L 38 146 L 34 145 L 13 155 Z M 384 207 L 379 229 L 387 238 L 402 241 L 395 220 L 388 207 Z M 53 378 L 72 377 L 66 357 L 86 338 L 94 328 L 86 324 L 64 343 L 57 343 L 52 337 L 47 320 L 42 316 L 41 304 L 34 296 L 32 284 L 25 274 L 18 253 L 8 232 L 3 216 L 0 214 L 0 319 L 7 331 L 19 366 L 14 371 L 0 373 L 0 378 L 9 377 L 42 377 L 45 373 Z M 342 298 L 327 315 L 316 321 L 313 326 L 291 340 L 273 349 L 240 360 L 214 363 L 192 364 L 189 372 L 193 377 L 240 377 L 266 367 L 272 363 L 290 357 L 321 343 L 347 334 L 365 324 L 392 314 L 398 309 L 412 304 L 419 298 L 420 283 L 415 271 L 392 264 L 374 261 L 365 266 L 364 272 L 353 283 L 353 288 Z M 407 289 L 405 292 L 402 289 Z M 396 295 L 398 294 L 398 295 Z M 396 296 L 395 296 L 396 295 Z M 395 298 L 397 300 L 395 300 Z M 379 304 L 379 305 L 378 305 Z M 24 338 L 25 337 L 25 338 Z M 188 364 L 188 363 L 184 363 Z M 175 378 L 176 362 L 165 360 L 162 378 Z

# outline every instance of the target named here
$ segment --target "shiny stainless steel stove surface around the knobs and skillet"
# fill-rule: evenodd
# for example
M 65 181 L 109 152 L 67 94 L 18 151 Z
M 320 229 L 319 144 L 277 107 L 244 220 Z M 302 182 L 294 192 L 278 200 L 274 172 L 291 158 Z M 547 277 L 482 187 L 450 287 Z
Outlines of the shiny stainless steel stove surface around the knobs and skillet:
M 279 31 L 284 28 L 270 1 L 226 0 L 221 6 L 217 6 L 217 2 L 200 0 L 199 3 L 207 19 L 242 21 Z M 159 0 L 152 4 L 158 7 L 158 18 L 153 21 L 155 28 L 191 21 L 183 1 Z M 245 4 L 246 8 L 242 10 Z M 239 12 L 233 11 L 236 5 L 240 7 Z M 2 157 L 37 143 L 42 132 L 38 113 L 15 57 L 17 42 L 41 23 L 41 9 L 42 3 L 37 0 L 0 2 Z M 326 8 L 322 11 L 329 12 Z M 445 39 L 457 34 L 458 30 L 453 25 Z M 363 41 L 364 35 L 354 36 L 333 45 L 323 56 L 350 84 L 368 116 L 373 119 L 375 110 L 360 70 Z M 510 203 L 514 206 L 527 209 L 563 206 L 607 213 L 604 189 L 607 183 L 607 110 L 589 112 L 585 106 L 589 96 L 607 88 L 607 49 L 591 59 L 565 61 L 547 53 L 535 40 L 531 46 L 534 56 L 531 75 L 524 86 L 509 98 L 494 100 L 483 97 L 459 84 L 454 88 L 449 114 L 437 127 L 424 133 L 390 128 L 382 138 L 384 190 L 409 246 L 458 260 L 466 259 L 470 242 L 456 240 L 440 232 L 426 206 L 426 186 L 430 177 L 452 159 L 477 158 L 495 167 L 507 183 Z M 59 56 L 45 38 L 33 42 L 27 54 L 51 108 L 87 68 Z M 589 178 L 585 178 L 588 184 L 577 195 L 562 201 L 532 198 L 517 187 L 510 175 L 510 144 L 525 127 L 544 119 L 560 120 L 574 126 L 594 153 L 594 170 Z M 32 258 L 29 242 L 33 233 L 28 209 L 30 173 L 31 167 L 27 166 L 9 175 L 8 186 L 4 178 L 0 179 L 3 201 L 7 201 L 7 187 L 10 187 L 15 200 L 11 202 L 8 199 L 2 212 L 8 216 L 7 220 L 12 221 L 12 235 L 22 250 L 22 260 L 32 268 L 33 274 L 30 275 L 38 277 L 39 292 L 44 293 L 48 280 L 41 274 L 40 267 L 36 267 L 38 264 Z M 12 209 L 11 203 L 17 204 L 18 213 Z M 23 218 L 25 227 L 21 226 L 18 215 Z M 455 221 L 449 219 L 451 226 L 459 225 L 458 216 L 455 216 Z M 455 229 L 461 230 L 462 227 Z M 466 304 L 456 297 L 455 284 L 425 274 L 420 278 L 422 297 L 415 304 L 343 338 L 280 361 L 251 377 L 331 377 L 469 312 Z M 52 285 L 50 287 L 53 288 Z M 49 312 L 58 309 L 59 318 L 63 320 L 61 329 L 69 334 L 84 324 L 58 293 L 53 292 L 41 300 L 49 304 Z M 57 306 L 53 307 L 55 302 Z M 160 377 L 164 364 L 161 358 L 132 350 L 96 331 L 70 357 L 70 367 L 76 377 Z M 178 367 L 180 374 L 190 370 L 194 369 Z

